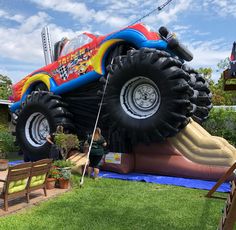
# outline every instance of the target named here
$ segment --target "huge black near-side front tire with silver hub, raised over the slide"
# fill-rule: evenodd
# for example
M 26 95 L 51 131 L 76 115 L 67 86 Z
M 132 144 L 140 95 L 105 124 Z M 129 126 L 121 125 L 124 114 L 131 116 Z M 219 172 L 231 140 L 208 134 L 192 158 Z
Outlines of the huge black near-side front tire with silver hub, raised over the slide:
M 125 128 L 134 143 L 176 135 L 195 108 L 190 76 L 181 67 L 170 54 L 154 49 L 131 50 L 115 58 L 108 67 L 105 116 Z

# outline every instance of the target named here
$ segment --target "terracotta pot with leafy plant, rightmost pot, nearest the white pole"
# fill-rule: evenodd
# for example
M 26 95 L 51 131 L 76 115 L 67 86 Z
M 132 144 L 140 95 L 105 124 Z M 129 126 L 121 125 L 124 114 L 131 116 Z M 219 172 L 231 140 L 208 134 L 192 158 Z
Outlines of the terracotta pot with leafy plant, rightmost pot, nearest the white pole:
M 59 171 L 58 182 L 59 187 L 67 189 L 70 183 L 71 167 L 75 164 L 70 160 L 57 160 L 54 161 L 53 166 Z

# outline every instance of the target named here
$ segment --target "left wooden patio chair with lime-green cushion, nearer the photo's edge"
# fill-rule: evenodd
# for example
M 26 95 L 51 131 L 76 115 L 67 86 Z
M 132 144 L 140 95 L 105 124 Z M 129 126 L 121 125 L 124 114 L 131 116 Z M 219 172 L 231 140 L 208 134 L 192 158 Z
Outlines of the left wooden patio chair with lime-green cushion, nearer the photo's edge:
M 9 167 L 6 179 L 0 179 L 0 182 L 4 182 L 0 198 L 4 200 L 5 211 L 8 211 L 8 200 L 11 198 L 26 195 L 27 203 L 29 203 L 27 191 L 31 174 L 31 166 L 32 163 L 28 162 Z

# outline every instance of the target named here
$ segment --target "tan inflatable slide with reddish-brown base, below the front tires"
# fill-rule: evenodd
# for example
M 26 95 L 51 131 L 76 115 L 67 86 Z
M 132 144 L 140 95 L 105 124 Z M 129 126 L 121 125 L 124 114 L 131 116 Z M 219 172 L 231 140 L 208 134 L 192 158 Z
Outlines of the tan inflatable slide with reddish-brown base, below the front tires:
M 211 136 L 190 123 L 164 143 L 138 145 L 135 171 L 216 180 L 236 161 L 236 149 L 224 138 Z

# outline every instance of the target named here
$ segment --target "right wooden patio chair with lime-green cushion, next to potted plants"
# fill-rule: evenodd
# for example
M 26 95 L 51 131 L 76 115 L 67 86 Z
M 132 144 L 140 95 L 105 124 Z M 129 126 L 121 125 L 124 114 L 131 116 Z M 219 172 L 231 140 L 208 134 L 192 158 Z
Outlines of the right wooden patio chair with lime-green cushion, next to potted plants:
M 44 195 L 47 196 L 46 182 L 51 165 L 52 159 L 43 159 L 32 163 L 27 189 L 28 200 L 30 192 L 38 189 L 43 189 Z

